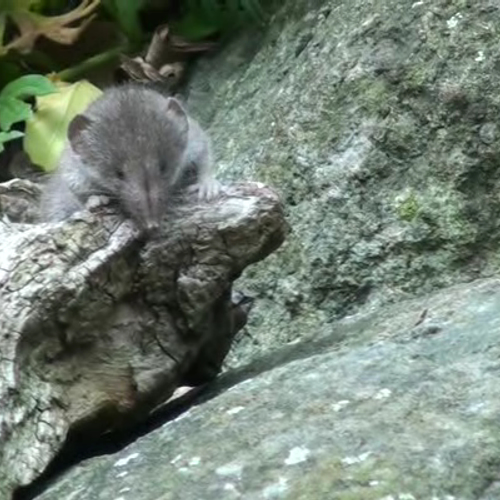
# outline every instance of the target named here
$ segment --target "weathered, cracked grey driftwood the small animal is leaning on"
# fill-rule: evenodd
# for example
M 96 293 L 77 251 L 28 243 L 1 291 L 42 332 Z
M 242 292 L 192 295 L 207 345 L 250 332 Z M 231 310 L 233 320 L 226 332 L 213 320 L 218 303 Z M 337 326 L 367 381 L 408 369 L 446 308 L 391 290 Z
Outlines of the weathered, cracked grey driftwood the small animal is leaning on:
M 287 232 L 257 184 L 184 205 L 153 239 L 103 213 L 12 223 L 9 190 L 37 187 L 0 185 L 0 498 L 39 476 L 68 432 L 123 429 L 214 377 L 246 321 L 232 282 Z

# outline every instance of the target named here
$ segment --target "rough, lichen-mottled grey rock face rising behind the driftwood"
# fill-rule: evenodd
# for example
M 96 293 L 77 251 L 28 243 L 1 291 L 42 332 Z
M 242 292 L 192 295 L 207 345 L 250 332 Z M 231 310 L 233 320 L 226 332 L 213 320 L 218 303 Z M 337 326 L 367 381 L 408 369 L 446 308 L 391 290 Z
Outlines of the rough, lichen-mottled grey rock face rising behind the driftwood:
M 189 89 L 219 174 L 274 186 L 293 229 L 244 275 L 233 364 L 499 262 L 498 2 L 284 4 Z

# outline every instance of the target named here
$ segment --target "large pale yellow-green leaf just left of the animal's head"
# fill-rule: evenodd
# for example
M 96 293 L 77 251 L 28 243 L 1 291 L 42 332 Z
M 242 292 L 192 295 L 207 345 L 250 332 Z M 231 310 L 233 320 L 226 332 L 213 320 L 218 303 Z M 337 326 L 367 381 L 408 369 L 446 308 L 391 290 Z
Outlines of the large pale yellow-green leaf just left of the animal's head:
M 70 121 L 101 95 L 91 83 L 59 84 L 58 92 L 37 97 L 36 112 L 26 122 L 24 151 L 46 171 L 53 170 L 66 143 Z

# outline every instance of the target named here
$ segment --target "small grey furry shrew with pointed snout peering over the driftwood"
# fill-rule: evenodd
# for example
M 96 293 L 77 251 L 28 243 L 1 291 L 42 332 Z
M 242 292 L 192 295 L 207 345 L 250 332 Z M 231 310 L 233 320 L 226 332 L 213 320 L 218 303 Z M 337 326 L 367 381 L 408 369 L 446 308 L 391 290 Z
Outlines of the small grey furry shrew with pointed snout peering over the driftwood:
M 209 139 L 180 102 L 146 87 L 113 87 L 71 121 L 41 216 L 63 220 L 90 197 L 106 196 L 139 228 L 151 230 L 190 173 L 199 199 L 219 193 Z

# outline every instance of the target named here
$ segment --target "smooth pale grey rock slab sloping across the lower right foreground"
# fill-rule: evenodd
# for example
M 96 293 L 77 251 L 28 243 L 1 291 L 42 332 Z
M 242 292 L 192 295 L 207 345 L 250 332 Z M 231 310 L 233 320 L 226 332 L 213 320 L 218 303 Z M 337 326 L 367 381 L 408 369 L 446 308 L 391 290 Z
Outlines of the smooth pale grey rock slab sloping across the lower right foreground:
M 344 320 L 38 500 L 496 500 L 499 357 L 498 279 Z

